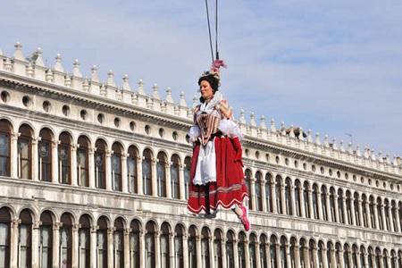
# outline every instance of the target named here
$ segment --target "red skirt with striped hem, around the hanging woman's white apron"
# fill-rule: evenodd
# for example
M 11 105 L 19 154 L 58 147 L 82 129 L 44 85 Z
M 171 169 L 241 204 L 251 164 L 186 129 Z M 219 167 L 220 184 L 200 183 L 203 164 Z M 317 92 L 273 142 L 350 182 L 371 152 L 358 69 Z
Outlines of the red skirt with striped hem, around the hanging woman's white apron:
M 238 138 L 214 138 L 216 181 L 194 185 L 200 144 L 193 149 L 188 190 L 188 211 L 192 214 L 214 214 L 218 209 L 231 209 L 248 198 Z

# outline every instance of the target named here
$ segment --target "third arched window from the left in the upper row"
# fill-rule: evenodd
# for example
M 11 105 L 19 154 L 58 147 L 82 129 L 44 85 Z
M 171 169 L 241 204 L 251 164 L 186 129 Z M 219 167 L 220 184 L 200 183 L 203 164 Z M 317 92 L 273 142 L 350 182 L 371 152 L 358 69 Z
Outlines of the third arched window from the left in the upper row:
M 38 143 L 38 178 L 52 181 L 52 132 L 45 128 L 39 132 Z

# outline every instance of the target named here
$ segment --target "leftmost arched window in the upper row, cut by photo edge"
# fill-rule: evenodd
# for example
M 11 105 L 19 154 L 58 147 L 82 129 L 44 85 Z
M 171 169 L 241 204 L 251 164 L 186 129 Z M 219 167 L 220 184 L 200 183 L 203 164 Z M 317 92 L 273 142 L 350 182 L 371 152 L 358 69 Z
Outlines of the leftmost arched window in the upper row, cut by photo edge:
M 10 177 L 12 130 L 13 128 L 9 121 L 0 120 L 0 176 Z

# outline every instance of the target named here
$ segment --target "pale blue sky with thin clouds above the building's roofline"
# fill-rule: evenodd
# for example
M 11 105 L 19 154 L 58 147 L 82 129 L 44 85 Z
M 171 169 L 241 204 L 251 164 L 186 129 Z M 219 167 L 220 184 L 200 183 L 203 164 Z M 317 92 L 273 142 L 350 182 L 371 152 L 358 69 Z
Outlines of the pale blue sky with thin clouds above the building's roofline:
M 214 1 L 209 0 L 213 5 Z M 277 125 L 297 125 L 383 155 L 402 155 L 402 2 L 219 0 L 222 93 Z M 150 93 L 154 83 L 173 98 L 197 94 L 210 62 L 204 0 L 5 0 L 0 49 L 25 55 L 42 47 L 84 76 L 129 74 Z

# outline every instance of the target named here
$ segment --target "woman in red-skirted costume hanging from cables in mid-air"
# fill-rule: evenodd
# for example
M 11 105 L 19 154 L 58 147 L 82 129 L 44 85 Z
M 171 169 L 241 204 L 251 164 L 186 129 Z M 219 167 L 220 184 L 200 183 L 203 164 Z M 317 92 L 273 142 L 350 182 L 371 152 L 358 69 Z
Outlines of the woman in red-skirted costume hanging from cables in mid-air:
M 249 230 L 248 198 L 241 160 L 242 138 L 239 126 L 222 94 L 216 60 L 211 71 L 198 80 L 200 105 L 194 111 L 194 125 L 189 130 L 194 143 L 191 159 L 188 211 L 191 214 L 216 214 L 219 209 L 231 209 L 238 215 L 245 230 Z

